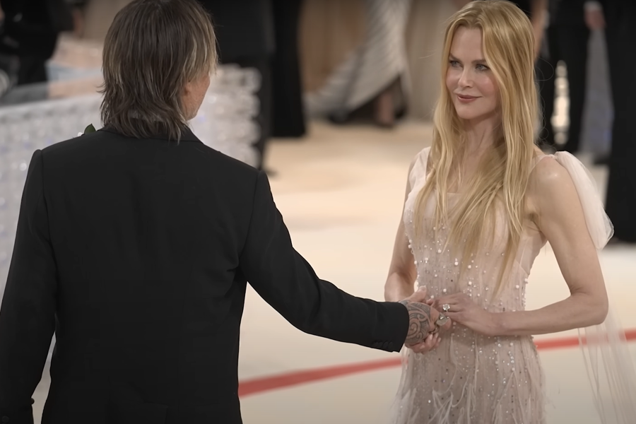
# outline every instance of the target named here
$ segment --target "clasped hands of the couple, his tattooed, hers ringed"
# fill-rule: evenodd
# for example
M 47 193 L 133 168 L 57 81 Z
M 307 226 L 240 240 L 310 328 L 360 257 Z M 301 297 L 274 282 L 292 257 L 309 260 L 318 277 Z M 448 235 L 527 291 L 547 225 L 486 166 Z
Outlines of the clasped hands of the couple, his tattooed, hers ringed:
M 440 346 L 440 330 L 450 329 L 452 322 L 486 336 L 498 335 L 497 314 L 484 310 L 464 293 L 427 300 L 426 288 L 420 286 L 402 303 L 407 307 L 409 318 L 404 345 L 415 353 L 425 353 Z M 445 322 L 444 316 L 448 317 Z

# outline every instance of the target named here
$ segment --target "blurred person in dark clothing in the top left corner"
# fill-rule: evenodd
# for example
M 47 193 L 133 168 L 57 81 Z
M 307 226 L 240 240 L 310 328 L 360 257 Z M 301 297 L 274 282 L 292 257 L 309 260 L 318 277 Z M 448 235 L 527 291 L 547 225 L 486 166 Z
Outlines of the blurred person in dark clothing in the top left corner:
M 73 30 L 71 8 L 64 0 L 0 0 L 0 8 L 0 54 L 18 58 L 18 85 L 46 82 L 59 33 Z

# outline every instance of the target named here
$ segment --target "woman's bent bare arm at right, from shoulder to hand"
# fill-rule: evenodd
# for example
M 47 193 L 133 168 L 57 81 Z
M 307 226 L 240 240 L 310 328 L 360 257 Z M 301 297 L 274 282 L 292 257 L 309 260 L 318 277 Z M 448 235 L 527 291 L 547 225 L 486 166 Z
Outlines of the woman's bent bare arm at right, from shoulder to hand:
M 528 199 L 570 296 L 533 311 L 486 312 L 463 293 L 439 298 L 434 306 L 451 305 L 447 315 L 452 320 L 488 336 L 531 336 L 601 324 L 608 310 L 605 283 L 570 174 L 553 158 L 541 160 L 531 177 Z

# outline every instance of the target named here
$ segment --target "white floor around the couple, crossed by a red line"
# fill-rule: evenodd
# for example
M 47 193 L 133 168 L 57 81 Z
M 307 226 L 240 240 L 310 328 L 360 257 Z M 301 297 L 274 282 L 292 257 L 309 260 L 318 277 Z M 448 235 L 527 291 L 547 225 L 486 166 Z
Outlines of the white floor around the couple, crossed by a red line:
M 321 278 L 349 293 L 382 300 L 408 164 L 429 143 L 428 124 L 381 131 L 314 123 L 303 141 L 271 144 L 269 165 L 278 172 L 271 179 L 276 204 L 295 247 Z M 603 187 L 604 170 L 593 173 Z M 620 319 L 625 327 L 636 327 L 630 308 L 636 299 L 636 249 L 608 248 L 601 261 Z M 530 280 L 529 309 L 567 296 L 549 249 L 539 255 Z M 242 380 L 397 357 L 302 334 L 251 290 L 246 303 Z M 543 351 L 541 358 L 550 396 L 549 423 L 599 423 L 578 349 Z M 398 382 L 399 367 L 393 367 L 254 394 L 242 399 L 243 417 L 246 424 L 384 424 Z M 37 414 L 48 384 L 46 370 L 36 394 Z

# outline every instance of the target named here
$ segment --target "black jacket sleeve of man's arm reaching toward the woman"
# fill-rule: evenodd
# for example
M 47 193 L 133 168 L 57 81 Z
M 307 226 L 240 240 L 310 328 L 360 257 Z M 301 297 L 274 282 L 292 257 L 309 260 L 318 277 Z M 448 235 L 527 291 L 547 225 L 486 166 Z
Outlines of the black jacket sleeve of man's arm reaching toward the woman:
M 348 295 L 319 279 L 295 251 L 263 172 L 257 179 L 240 262 L 254 290 L 296 328 L 384 351 L 399 351 L 404 344 L 408 331 L 404 305 Z

